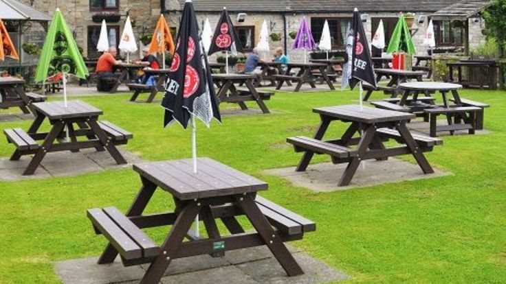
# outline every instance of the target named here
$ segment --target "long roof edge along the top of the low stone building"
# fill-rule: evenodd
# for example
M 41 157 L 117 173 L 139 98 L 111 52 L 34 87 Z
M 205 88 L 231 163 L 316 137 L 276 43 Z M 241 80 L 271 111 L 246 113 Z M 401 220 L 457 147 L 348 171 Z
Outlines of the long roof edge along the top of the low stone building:
M 166 0 L 169 1 L 169 0 Z M 179 0 L 180 10 L 185 0 Z M 196 12 L 436 12 L 460 0 L 198 0 Z M 409 8 L 408 8 L 409 7 Z

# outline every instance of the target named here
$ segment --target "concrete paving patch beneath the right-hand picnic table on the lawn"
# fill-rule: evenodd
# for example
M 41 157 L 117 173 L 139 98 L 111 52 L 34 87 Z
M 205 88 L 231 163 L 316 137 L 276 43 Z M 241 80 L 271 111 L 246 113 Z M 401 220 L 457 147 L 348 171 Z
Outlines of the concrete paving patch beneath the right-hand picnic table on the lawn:
M 349 186 L 338 187 L 338 182 L 346 167 L 347 163 L 337 165 L 333 163 L 318 163 L 309 165 L 306 171 L 295 171 L 296 167 L 285 167 L 282 169 L 267 169 L 263 172 L 273 176 L 281 176 L 297 187 L 305 187 L 312 191 L 345 190 L 404 180 L 434 178 L 450 174 L 434 167 L 432 167 L 434 174 L 423 174 L 423 171 L 421 171 L 417 164 L 408 163 L 396 158 L 388 158 L 388 161 L 368 160 L 360 164 Z

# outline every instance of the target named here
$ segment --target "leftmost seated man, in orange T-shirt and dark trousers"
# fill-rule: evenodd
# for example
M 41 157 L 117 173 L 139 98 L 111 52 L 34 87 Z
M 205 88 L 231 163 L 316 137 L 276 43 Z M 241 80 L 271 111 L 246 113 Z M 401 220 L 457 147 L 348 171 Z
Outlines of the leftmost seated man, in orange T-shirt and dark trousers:
M 115 72 L 115 65 L 121 64 L 121 60 L 116 60 L 115 56 L 118 51 L 115 47 L 110 47 L 105 51 L 97 61 L 95 72 L 97 73 L 97 91 L 111 91 L 115 84 L 115 79 L 118 78 Z

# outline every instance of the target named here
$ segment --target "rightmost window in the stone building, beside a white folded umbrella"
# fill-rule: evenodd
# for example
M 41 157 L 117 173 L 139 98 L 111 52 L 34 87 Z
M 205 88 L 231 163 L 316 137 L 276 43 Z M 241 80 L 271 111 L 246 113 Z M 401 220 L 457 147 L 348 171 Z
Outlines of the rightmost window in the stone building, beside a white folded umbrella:
M 463 21 L 433 21 L 437 46 L 462 46 L 464 38 Z

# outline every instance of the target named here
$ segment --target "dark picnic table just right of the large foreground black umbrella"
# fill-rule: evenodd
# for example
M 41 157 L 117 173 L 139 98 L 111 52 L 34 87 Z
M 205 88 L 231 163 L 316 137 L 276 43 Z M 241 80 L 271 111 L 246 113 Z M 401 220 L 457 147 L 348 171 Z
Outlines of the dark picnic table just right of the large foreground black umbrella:
M 270 113 L 263 101 L 274 93 L 257 91 L 254 86 L 257 77 L 254 74 L 212 74 L 212 81 L 218 87 L 218 101 L 239 104 L 242 110 L 248 109 L 244 102 L 254 101 L 263 113 Z M 246 88 L 236 87 L 243 84 Z

